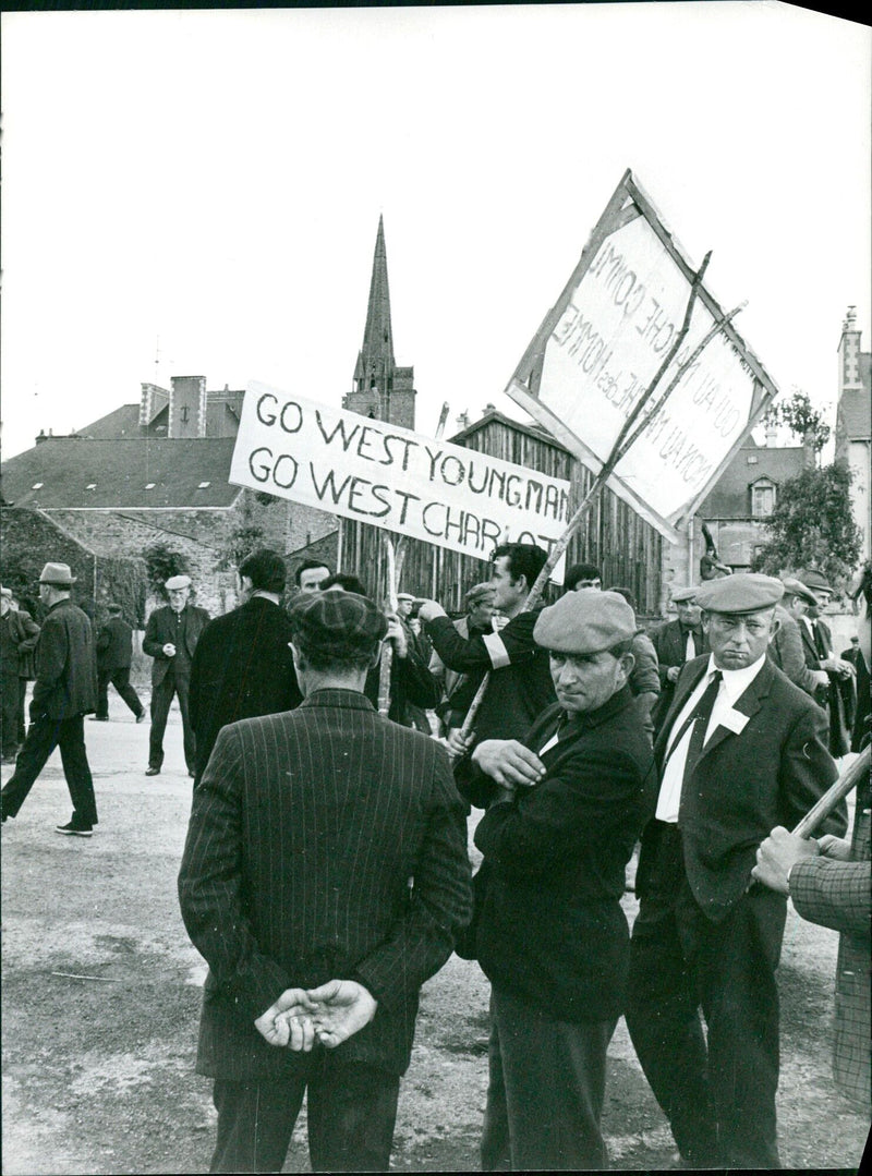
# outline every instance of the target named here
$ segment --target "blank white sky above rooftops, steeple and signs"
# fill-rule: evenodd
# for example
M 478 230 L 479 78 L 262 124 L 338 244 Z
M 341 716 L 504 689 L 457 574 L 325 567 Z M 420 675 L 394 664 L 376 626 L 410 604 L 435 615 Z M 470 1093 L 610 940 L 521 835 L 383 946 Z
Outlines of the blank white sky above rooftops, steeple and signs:
M 626 167 L 832 405 L 850 303 L 871 346 L 871 47 L 765 0 L 4 14 L 4 456 L 155 372 L 339 405 L 379 213 L 419 432 L 522 419 L 502 389 Z

